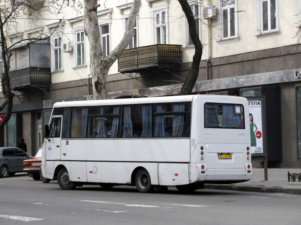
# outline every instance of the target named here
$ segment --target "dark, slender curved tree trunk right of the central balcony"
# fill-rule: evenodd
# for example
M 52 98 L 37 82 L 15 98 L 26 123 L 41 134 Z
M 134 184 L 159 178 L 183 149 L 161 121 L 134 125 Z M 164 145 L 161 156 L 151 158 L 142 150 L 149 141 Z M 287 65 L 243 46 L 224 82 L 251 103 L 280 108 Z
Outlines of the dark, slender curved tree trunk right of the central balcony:
M 194 48 L 195 48 L 191 67 L 188 71 L 184 85 L 182 86 L 182 89 L 181 89 L 179 95 L 190 95 L 191 91 L 193 90 L 194 84 L 197 80 L 197 76 L 199 74 L 199 67 L 200 67 L 200 61 L 201 61 L 201 57 L 202 57 L 202 53 L 203 53 L 203 48 L 202 48 L 202 43 L 200 41 L 200 38 L 197 35 L 195 22 L 194 22 L 194 15 L 191 11 L 191 8 L 190 8 L 187 0 L 178 0 L 178 1 L 182 7 L 182 10 L 185 13 L 186 18 L 187 18 L 189 35 L 191 37 L 191 40 L 192 40 L 192 42 L 194 44 Z

